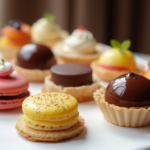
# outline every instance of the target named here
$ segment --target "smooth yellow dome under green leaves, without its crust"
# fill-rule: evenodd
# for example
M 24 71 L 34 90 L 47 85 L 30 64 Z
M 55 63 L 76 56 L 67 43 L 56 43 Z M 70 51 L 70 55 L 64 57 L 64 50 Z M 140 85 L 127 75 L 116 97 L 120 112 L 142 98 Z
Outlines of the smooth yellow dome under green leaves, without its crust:
M 104 52 L 99 60 L 98 64 L 101 67 L 112 68 L 114 70 L 136 70 L 136 63 L 131 51 L 126 50 L 123 54 L 117 48 L 112 48 Z

